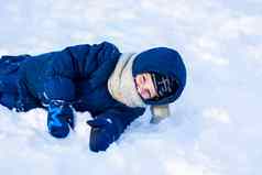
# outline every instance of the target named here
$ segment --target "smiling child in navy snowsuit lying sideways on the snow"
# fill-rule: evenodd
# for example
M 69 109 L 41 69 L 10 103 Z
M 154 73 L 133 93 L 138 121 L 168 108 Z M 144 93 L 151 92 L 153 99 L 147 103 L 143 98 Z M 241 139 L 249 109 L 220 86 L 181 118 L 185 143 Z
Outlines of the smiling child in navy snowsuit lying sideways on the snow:
M 89 146 L 95 152 L 106 151 L 146 106 L 175 101 L 185 83 L 181 55 L 167 47 L 120 53 L 103 42 L 0 59 L 1 105 L 17 111 L 46 109 L 48 132 L 55 138 L 74 129 L 74 110 L 89 111 Z

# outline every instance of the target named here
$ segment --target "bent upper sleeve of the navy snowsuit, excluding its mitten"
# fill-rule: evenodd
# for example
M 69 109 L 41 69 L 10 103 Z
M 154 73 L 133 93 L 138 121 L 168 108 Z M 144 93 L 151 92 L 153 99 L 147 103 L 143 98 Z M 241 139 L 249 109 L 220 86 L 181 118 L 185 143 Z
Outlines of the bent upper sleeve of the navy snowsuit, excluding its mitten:
M 108 66 L 105 72 L 110 72 L 110 64 L 114 64 L 112 59 L 117 61 L 120 53 L 113 44 L 103 42 L 66 47 L 61 52 L 50 53 L 48 56 L 51 58 L 44 83 L 46 97 L 72 101 L 75 98 L 74 79 L 89 78 L 90 85 L 95 85 L 92 79 L 103 80 L 105 76 L 96 70 Z

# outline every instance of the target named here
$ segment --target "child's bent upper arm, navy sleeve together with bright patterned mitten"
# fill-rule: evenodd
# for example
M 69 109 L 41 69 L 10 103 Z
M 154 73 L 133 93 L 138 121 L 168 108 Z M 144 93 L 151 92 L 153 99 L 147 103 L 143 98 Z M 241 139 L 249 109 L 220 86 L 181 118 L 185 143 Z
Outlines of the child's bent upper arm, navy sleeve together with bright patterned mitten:
M 96 70 L 103 67 L 105 72 L 110 72 L 110 64 L 113 64 L 111 59 L 117 61 L 119 55 L 118 48 L 107 42 L 70 46 L 47 54 L 50 61 L 44 77 L 42 100 L 48 107 L 47 127 L 53 136 L 65 138 L 69 128 L 74 129 L 70 106 L 75 99 L 74 80 L 89 78 L 90 84 L 92 78 L 103 80 L 105 76 L 96 74 Z

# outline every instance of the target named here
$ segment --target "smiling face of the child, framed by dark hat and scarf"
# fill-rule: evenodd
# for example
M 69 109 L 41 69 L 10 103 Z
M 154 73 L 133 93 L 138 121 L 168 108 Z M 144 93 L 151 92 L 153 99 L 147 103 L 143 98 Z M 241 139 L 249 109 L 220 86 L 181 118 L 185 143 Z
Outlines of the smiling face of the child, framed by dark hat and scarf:
M 137 75 L 134 81 L 138 92 L 143 99 L 152 99 L 157 96 L 152 77 L 149 73 Z

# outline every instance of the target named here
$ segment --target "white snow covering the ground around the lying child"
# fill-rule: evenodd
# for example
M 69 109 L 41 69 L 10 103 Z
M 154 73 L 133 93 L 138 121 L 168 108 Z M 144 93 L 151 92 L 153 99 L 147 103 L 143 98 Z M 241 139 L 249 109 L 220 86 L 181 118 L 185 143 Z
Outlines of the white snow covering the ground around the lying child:
M 187 86 L 172 117 L 135 120 L 107 152 L 88 150 L 88 112 L 65 140 L 46 111 L 0 106 L 0 172 L 17 175 L 260 175 L 262 2 L 259 0 L 10 0 L 0 7 L 0 54 L 39 54 L 109 41 L 123 52 L 176 48 Z

